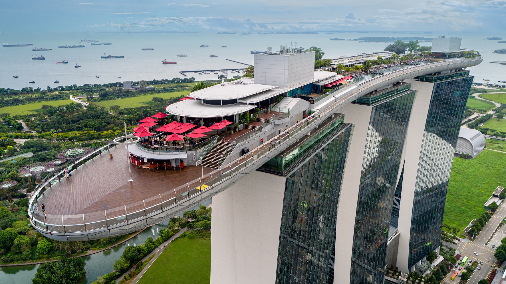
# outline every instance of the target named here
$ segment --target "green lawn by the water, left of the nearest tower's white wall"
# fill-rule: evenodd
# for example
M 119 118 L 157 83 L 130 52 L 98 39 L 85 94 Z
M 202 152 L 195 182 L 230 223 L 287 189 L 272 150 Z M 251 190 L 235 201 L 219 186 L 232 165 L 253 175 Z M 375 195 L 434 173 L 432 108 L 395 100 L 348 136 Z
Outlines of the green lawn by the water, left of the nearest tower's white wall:
M 137 283 L 205 284 L 210 281 L 211 241 L 186 236 L 174 240 Z

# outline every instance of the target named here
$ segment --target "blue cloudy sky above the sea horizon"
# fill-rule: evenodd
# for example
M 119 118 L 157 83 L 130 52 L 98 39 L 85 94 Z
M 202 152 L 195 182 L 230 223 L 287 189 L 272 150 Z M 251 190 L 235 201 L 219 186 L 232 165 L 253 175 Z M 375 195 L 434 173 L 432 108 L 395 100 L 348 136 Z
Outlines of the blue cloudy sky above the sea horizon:
M 504 32 L 506 0 L 23 0 L 0 2 L 14 32 Z

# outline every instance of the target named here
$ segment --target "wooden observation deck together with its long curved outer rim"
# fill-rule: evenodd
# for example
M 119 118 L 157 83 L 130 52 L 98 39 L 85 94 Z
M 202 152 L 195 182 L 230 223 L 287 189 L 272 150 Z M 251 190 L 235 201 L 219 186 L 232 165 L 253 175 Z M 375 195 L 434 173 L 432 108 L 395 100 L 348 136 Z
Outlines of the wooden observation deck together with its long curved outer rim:
M 273 137 L 274 144 L 267 140 L 250 147 L 246 155 L 219 169 L 203 168 L 205 180 L 201 179 L 201 166 L 176 171 L 138 169 L 126 161 L 124 147 L 111 148 L 112 159 L 101 148 L 88 156 L 86 164 L 77 167 L 69 179 L 56 182 L 52 176 L 37 186 L 30 197 L 30 222 L 39 232 L 58 240 L 104 238 L 157 224 L 225 190 L 304 139 L 344 105 L 378 87 L 428 73 L 475 66 L 481 61 L 482 58 L 471 58 L 409 66 L 343 88 L 321 101 L 313 114 Z M 92 156 L 95 157 L 90 159 Z M 133 182 L 128 182 L 128 167 L 132 167 Z M 47 214 L 34 210 L 35 201 L 45 204 Z

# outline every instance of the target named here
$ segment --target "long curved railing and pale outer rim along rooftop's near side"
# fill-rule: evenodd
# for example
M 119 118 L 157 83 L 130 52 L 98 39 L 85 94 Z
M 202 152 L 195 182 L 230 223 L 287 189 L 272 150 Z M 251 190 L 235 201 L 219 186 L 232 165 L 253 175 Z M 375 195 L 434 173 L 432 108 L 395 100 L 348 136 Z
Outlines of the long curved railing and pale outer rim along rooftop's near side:
M 421 70 L 432 66 L 436 68 L 443 64 L 429 63 L 425 65 L 424 67 L 413 66 L 411 68 L 413 70 Z M 452 66 L 453 65 L 450 67 Z M 232 161 L 232 163 L 206 174 L 205 179 L 198 178 L 177 188 L 167 188 L 166 192 L 152 196 L 151 198 L 92 213 L 78 215 L 44 215 L 37 212 L 33 207 L 33 201 L 40 196 L 39 191 L 45 187 L 45 185 L 41 185 L 37 193 L 30 198 L 28 210 L 30 222 L 39 231 L 46 234 L 51 232 L 51 234 L 61 236 L 61 238 L 66 240 L 82 239 L 82 234 L 87 234 L 90 239 L 121 235 L 132 229 L 127 225 L 138 224 L 141 220 L 145 220 L 144 223 L 142 223 L 145 224 L 145 226 L 159 223 L 161 220 L 181 213 L 189 209 L 190 206 L 197 205 L 214 194 L 221 192 L 240 178 L 239 174 L 241 171 L 243 174 L 247 174 L 260 167 L 268 159 L 286 149 L 295 141 L 301 139 L 304 135 L 309 133 L 309 131 L 322 123 L 322 121 L 333 115 L 340 105 L 353 101 L 363 95 L 362 92 L 367 92 L 371 88 L 377 88 L 377 84 L 391 80 L 400 74 L 404 74 L 408 77 L 412 75 L 408 74 L 409 70 L 408 72 L 405 72 L 405 69 L 402 72 L 400 71 L 393 72 L 396 74 L 391 73 L 390 75 L 374 77 L 367 82 L 359 84 L 359 89 L 348 90 L 351 91 L 349 94 L 348 91 L 345 91 L 341 98 L 336 97 L 336 101 L 325 107 L 325 109 L 316 110 L 315 113 L 289 127 L 283 133 L 266 141 L 266 143 L 260 144 L 244 156 Z M 126 226 L 126 229 L 124 229 L 126 231 L 118 229 L 120 227 L 124 228 L 124 226 Z M 133 227 L 135 228 L 135 226 Z M 103 231 L 108 231 L 108 235 L 101 233 Z

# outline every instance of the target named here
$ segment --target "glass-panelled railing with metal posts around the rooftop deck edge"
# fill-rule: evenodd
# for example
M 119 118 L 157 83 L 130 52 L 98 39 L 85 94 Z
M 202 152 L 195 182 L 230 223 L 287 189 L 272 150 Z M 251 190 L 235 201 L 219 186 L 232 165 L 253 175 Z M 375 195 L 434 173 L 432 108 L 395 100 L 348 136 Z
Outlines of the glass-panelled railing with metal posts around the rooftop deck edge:
M 434 63 L 434 65 L 431 64 L 431 66 L 438 66 L 438 64 L 443 65 L 442 63 Z M 413 68 L 416 69 L 413 71 L 420 69 L 419 66 Z M 406 71 L 406 73 L 402 74 L 411 75 L 409 74 L 410 70 Z M 43 194 L 40 192 L 41 189 L 44 189 L 48 185 L 48 182 L 51 180 L 46 178 L 45 183 L 40 184 L 38 190 L 36 192 L 34 191 L 35 194 L 33 194 L 30 198 L 28 210 L 30 220 L 32 224 L 40 230 L 60 233 L 61 235 L 62 233 L 87 233 L 90 230 L 104 228 L 111 229 L 118 226 L 123 226 L 125 224 L 133 223 L 141 219 L 150 218 L 155 215 L 158 216 L 160 211 L 165 212 L 169 209 L 172 212 L 171 214 L 180 213 L 178 210 L 184 210 L 186 206 L 182 206 L 181 209 L 178 209 L 176 208 L 176 205 L 182 203 L 190 205 L 193 203 L 198 204 L 198 202 L 210 198 L 210 196 L 213 194 L 220 192 L 224 189 L 224 187 L 216 190 L 214 190 L 214 187 L 222 184 L 224 181 L 228 181 L 231 177 L 236 176 L 241 170 L 252 165 L 258 159 L 264 158 L 265 160 L 262 160 L 261 162 L 265 163 L 269 158 L 266 156 L 268 152 L 275 149 L 279 153 L 280 151 L 284 150 L 288 145 L 291 145 L 292 143 L 301 139 L 302 135 L 307 134 L 307 132 L 310 130 L 310 127 L 316 127 L 323 120 L 331 116 L 335 112 L 335 108 L 340 104 L 343 104 L 350 99 L 354 100 L 356 99 L 354 96 L 360 95 L 360 93 L 362 91 L 365 91 L 367 88 L 373 87 L 378 83 L 395 77 L 395 75 L 392 73 L 389 75 L 390 76 L 382 78 L 375 77 L 369 80 L 369 84 L 367 84 L 367 86 L 363 86 L 366 84 L 366 82 L 360 84 L 360 86 L 363 86 L 362 88 L 358 90 L 354 89 L 353 92 L 334 102 L 324 110 L 316 110 L 315 113 L 299 121 L 299 123 L 289 127 L 283 133 L 276 135 L 268 141 L 265 141 L 264 143 L 260 144 L 260 146 L 252 149 L 245 155 L 240 156 L 230 164 L 204 175 L 203 178 L 189 181 L 177 188 L 166 188 L 167 190 L 164 193 L 155 195 L 151 198 L 136 201 L 131 204 L 120 205 L 119 207 L 113 209 L 92 213 L 78 215 L 42 214 L 33 207 L 33 204 L 34 201 L 39 200 Z M 302 135 L 301 132 L 303 132 Z M 294 137 L 296 135 L 297 137 Z M 291 141 L 288 141 L 290 139 Z M 103 149 L 104 147 L 94 151 L 87 157 L 81 158 L 78 163 L 86 163 L 87 159 L 89 160 L 91 156 L 100 154 Z M 272 154 L 269 156 L 272 156 Z M 231 183 L 232 182 L 230 181 L 227 182 L 227 184 Z M 171 214 L 167 214 L 166 216 L 169 216 Z

